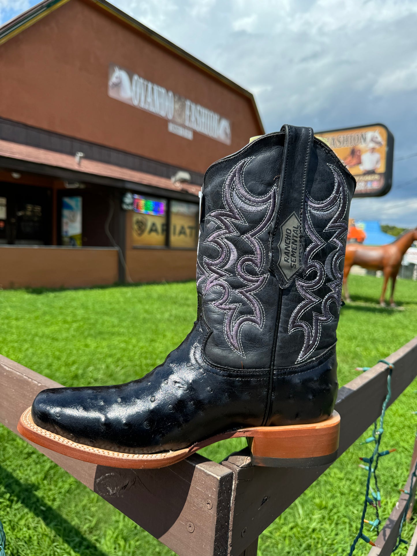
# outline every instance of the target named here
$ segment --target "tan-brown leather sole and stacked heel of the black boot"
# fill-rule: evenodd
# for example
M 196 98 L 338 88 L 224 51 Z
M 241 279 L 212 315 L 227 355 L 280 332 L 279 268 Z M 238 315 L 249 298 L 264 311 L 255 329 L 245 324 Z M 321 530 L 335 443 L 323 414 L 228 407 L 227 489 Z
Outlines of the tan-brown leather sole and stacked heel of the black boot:
M 27 440 L 70 458 L 97 465 L 127 469 L 151 469 L 172 465 L 201 448 L 227 438 L 245 436 L 254 465 L 267 467 L 315 467 L 336 459 L 339 446 L 340 415 L 308 425 L 257 426 L 211 436 L 189 448 L 157 454 L 126 454 L 78 444 L 37 426 L 31 409 L 22 414 L 17 430 Z

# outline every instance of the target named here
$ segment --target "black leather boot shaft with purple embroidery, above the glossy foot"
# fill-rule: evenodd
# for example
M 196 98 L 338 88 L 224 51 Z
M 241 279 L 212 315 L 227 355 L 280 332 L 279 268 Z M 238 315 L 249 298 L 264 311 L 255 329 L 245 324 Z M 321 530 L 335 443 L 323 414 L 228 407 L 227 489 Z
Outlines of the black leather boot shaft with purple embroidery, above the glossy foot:
M 311 128 L 282 131 L 205 176 L 203 351 L 225 369 L 287 368 L 336 341 L 354 178 Z

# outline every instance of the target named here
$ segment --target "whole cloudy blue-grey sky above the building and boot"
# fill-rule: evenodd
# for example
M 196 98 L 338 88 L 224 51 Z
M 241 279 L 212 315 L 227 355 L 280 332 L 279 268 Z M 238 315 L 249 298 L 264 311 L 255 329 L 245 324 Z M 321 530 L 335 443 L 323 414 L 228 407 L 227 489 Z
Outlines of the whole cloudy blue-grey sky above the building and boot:
M 0 0 L 0 22 L 33 0 Z M 416 0 L 115 0 L 255 95 L 266 132 L 381 122 L 394 180 L 351 216 L 417 226 Z M 414 156 L 413 156 L 414 155 Z

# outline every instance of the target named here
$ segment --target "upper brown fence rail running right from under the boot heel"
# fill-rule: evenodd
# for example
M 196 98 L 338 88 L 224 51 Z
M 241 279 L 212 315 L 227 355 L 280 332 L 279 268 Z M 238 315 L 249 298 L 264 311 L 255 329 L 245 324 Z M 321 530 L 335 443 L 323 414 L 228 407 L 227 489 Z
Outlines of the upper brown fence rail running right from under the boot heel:
M 417 337 L 386 359 L 395 364 L 391 379 L 390 403 L 393 403 L 417 375 Z M 335 408 L 341 416 L 339 455 L 380 415 L 387 376 L 386 365 L 379 363 L 340 388 Z M 313 469 L 254 467 L 248 455 L 245 449 L 222 462 L 234 473 L 231 556 L 241 554 L 248 542 L 259 537 L 328 468 L 328 465 Z

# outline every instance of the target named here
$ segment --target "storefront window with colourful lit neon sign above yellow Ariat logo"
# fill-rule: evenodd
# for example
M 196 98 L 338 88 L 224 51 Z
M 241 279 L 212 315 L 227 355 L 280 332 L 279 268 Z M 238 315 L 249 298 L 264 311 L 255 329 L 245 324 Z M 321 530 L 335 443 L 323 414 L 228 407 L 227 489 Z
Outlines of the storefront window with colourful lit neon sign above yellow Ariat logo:
M 166 206 L 166 199 L 133 195 L 133 245 L 166 245 Z

